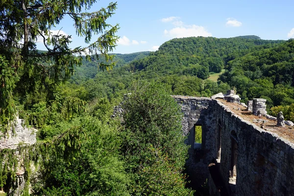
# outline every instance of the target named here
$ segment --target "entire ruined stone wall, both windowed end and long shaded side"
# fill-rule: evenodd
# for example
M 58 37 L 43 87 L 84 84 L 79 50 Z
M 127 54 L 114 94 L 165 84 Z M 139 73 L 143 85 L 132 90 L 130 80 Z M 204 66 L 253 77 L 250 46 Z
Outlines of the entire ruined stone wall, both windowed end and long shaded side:
M 199 183 L 211 179 L 208 165 L 216 163 L 230 195 L 294 195 L 293 143 L 243 120 L 216 99 L 183 96 L 174 99 L 184 113 L 183 133 L 189 135 L 187 143 L 193 145 L 195 125 L 202 125 L 201 150 L 191 147 L 187 160 L 187 171 L 192 178 Z M 209 184 L 215 186 L 212 180 Z

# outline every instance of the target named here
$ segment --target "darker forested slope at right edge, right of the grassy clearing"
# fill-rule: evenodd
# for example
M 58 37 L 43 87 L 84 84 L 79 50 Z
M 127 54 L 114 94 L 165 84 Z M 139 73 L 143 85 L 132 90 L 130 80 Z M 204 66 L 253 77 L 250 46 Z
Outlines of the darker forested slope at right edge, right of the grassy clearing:
M 235 86 L 244 99 L 266 98 L 269 107 L 294 103 L 294 40 L 250 52 L 225 69 L 221 81 Z

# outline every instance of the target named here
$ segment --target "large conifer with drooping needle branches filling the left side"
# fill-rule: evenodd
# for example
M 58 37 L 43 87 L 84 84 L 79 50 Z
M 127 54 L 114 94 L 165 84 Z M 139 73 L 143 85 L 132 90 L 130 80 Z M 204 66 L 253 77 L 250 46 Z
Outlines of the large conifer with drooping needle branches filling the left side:
M 111 2 L 105 8 L 89 12 L 94 3 L 96 0 L 0 1 L 1 137 L 13 136 L 8 131 L 13 130 L 17 115 L 26 116 L 26 125 L 41 128 L 56 121 L 71 120 L 85 112 L 83 100 L 61 97 L 57 87 L 73 75 L 75 66 L 81 65 L 82 55 L 90 61 L 90 55 L 96 55 L 96 59 L 104 58 L 103 63 L 97 64 L 102 70 L 109 70 L 116 63 L 108 52 L 116 46 L 118 37 L 115 33 L 119 26 L 106 21 L 114 14 L 117 3 Z M 54 33 L 53 28 L 65 17 L 72 19 L 75 33 L 85 38 L 86 47 L 71 48 L 72 35 L 62 33 L 61 29 Z M 93 41 L 94 35 L 98 38 Z M 37 42 L 41 42 L 46 51 L 38 50 Z M 16 109 L 16 103 L 32 102 L 27 99 L 34 99 L 36 95 L 42 99 L 29 105 L 28 110 Z M 13 190 L 18 183 L 16 171 L 24 168 L 23 194 L 28 194 L 31 161 L 42 160 L 46 166 L 50 157 L 62 155 L 71 163 L 82 141 L 87 140 L 83 126 L 75 126 L 48 141 L 2 150 L 0 187 Z

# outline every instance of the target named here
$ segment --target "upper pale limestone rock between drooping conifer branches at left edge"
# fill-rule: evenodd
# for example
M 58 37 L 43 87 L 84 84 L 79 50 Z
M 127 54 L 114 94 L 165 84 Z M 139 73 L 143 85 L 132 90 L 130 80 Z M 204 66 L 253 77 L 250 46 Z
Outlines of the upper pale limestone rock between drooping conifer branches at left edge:
M 36 129 L 28 129 L 22 126 L 22 119 L 17 117 L 17 124 L 15 127 L 15 136 L 9 133 L 9 138 L 1 138 L 0 139 L 0 149 L 10 148 L 15 149 L 17 148 L 20 142 L 25 144 L 35 144 L 37 142 L 36 139 Z

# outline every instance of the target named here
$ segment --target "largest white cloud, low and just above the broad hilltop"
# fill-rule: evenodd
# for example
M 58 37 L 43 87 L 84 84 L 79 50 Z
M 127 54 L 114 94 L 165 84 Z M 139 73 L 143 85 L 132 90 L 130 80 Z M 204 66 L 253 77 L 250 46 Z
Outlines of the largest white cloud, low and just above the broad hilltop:
M 164 30 L 164 34 L 172 38 L 183 37 L 211 37 L 212 34 L 208 32 L 203 26 L 198 25 L 186 25 L 174 27 L 171 30 Z

